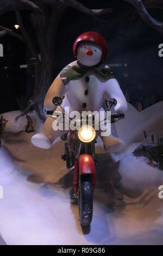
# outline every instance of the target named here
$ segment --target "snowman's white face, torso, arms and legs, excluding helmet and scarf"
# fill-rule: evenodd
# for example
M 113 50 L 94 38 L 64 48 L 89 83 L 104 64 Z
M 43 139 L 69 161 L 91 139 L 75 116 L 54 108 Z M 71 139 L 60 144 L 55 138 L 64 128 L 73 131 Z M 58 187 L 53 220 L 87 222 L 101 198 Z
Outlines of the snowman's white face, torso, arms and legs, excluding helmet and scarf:
M 78 66 L 79 63 L 93 67 L 101 62 L 103 49 L 94 42 L 81 42 L 78 46 L 77 60 L 68 64 L 69 66 Z M 98 68 L 100 70 L 108 68 L 107 65 L 101 63 Z M 65 67 L 66 69 L 66 67 Z M 127 101 L 122 93 L 120 85 L 115 78 L 104 80 L 103 77 L 96 74 L 94 69 L 89 69 L 81 78 L 71 80 L 64 84 L 60 74 L 55 78 L 49 88 L 45 101 L 45 111 L 54 111 L 56 106 L 52 100 L 55 96 L 65 95 L 63 107 L 68 106 L 70 111 L 99 111 L 105 100 L 116 99 L 117 105 L 114 107 L 117 113 L 127 111 Z M 64 131 L 54 131 L 52 128 L 52 120 L 47 118 L 41 133 L 32 137 L 32 143 L 37 147 L 50 148 L 55 139 L 64 134 Z M 112 148 L 111 151 L 122 151 L 124 143 L 113 136 L 102 138 L 104 148 Z M 109 143 L 110 140 L 110 143 Z

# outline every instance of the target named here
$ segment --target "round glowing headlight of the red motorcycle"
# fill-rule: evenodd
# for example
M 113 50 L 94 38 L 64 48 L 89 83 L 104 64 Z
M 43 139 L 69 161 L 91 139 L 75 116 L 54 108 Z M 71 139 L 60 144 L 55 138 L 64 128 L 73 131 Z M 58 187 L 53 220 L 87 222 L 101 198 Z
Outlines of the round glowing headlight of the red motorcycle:
M 84 125 L 78 131 L 78 137 L 82 142 L 91 142 L 93 139 L 95 139 L 95 136 L 95 130 L 89 125 Z

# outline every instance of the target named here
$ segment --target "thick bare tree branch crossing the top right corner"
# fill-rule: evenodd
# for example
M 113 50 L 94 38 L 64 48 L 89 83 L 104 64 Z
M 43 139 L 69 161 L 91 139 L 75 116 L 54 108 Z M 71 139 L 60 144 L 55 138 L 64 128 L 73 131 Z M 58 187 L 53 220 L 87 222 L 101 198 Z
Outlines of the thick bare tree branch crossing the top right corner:
M 160 34 L 163 34 L 163 22 L 155 20 L 147 11 L 145 8 L 145 5 L 143 5 L 141 0 L 124 0 L 125 2 L 128 2 L 132 4 L 136 10 L 141 19 L 149 26 L 154 29 L 156 29 Z

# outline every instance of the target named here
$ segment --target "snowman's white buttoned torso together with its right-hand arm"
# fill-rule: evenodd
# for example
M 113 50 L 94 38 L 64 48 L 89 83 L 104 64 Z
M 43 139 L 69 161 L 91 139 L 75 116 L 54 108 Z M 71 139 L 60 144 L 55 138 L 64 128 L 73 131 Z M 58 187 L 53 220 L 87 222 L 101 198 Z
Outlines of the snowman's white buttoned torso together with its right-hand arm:
M 77 61 L 69 65 L 78 66 Z M 108 68 L 108 66 L 102 64 L 99 68 Z M 65 94 L 71 111 L 80 113 L 82 111 L 99 111 L 105 100 L 108 99 L 116 99 L 115 111 L 117 113 L 124 113 L 127 110 L 127 102 L 117 80 L 111 78 L 108 81 L 103 81 L 93 70 L 87 71 L 82 78 L 67 83 Z M 48 108 L 48 106 L 45 107 Z

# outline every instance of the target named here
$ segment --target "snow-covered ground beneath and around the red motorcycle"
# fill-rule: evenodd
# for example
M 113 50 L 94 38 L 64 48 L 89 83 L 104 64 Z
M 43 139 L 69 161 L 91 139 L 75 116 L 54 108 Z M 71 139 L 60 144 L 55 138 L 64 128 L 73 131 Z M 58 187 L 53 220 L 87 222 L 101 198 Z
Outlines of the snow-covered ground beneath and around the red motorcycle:
M 148 133 L 154 132 L 158 123 L 162 124 L 162 113 L 154 118 L 156 111 L 163 109 L 162 102 L 158 104 L 159 107 L 155 104 L 148 108 L 153 116 L 151 123 L 146 109 L 142 114 L 129 106 L 127 116 L 131 123 L 135 113 L 135 126 L 130 127 L 128 119 L 115 125 L 119 136 L 129 127 L 128 133 L 120 136 L 128 148 L 120 156 L 114 156 L 115 160 L 104 153 L 99 140 L 90 230 L 82 229 L 79 223 L 73 175 L 60 159 L 64 143 L 58 140 L 51 149 L 34 147 L 30 142 L 34 133 L 24 132 L 26 117 L 15 123 L 18 112 L 5 113 L 9 122 L 0 148 L 0 185 L 3 186 L 0 245 L 163 244 L 163 199 L 158 197 L 163 172 L 131 154 L 143 141 L 144 128 Z M 32 117 L 35 129 L 40 130 L 36 115 Z M 141 119 L 141 125 L 135 117 Z M 128 139 L 131 131 L 134 136 Z

